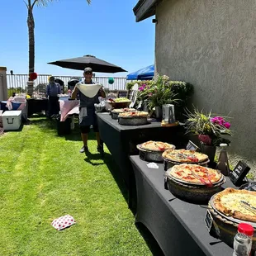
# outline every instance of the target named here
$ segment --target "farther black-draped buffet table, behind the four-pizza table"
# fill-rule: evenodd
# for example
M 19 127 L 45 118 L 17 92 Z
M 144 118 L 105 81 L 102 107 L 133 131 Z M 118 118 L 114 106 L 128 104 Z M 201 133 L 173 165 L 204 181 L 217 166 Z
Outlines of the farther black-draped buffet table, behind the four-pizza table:
M 97 113 L 97 121 L 102 141 L 107 145 L 121 172 L 129 193 L 129 206 L 135 205 L 135 178 L 129 156 L 139 154 L 136 145 L 147 140 L 159 140 L 183 148 L 187 144 L 183 126 L 162 127 L 160 122 L 144 126 L 121 126 L 111 119 L 109 113 Z M 134 196 L 133 196 L 134 195 Z

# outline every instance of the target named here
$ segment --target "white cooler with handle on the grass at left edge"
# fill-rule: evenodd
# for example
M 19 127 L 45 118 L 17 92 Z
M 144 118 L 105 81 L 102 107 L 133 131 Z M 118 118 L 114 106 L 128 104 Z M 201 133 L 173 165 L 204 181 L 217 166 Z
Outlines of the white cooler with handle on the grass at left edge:
M 21 111 L 4 111 L 2 126 L 3 130 L 18 130 L 21 126 Z

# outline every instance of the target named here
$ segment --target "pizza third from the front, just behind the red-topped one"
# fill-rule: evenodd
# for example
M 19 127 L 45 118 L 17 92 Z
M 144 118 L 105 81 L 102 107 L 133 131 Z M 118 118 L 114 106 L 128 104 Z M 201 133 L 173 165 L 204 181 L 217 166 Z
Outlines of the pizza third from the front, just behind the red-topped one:
M 186 149 L 168 149 L 164 151 L 163 158 L 178 163 L 201 163 L 208 159 L 208 155 Z

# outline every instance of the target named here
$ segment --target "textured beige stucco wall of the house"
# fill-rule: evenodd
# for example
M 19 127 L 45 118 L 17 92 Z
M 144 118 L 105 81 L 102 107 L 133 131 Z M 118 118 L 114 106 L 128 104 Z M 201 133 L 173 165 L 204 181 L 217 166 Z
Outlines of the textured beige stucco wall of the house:
M 230 113 L 232 164 L 256 170 L 256 1 L 165 0 L 156 18 L 157 71 L 192 83 L 195 106 Z

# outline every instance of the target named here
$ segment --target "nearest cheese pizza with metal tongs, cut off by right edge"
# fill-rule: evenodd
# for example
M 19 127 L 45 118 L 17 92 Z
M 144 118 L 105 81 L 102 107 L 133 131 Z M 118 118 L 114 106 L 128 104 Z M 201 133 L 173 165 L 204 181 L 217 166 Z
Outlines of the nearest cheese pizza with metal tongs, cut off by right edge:
M 240 201 L 246 201 L 251 206 L 256 207 L 256 192 L 228 187 L 217 193 L 213 197 L 212 203 L 216 210 L 222 212 L 225 216 L 256 222 L 255 212 L 242 206 Z

